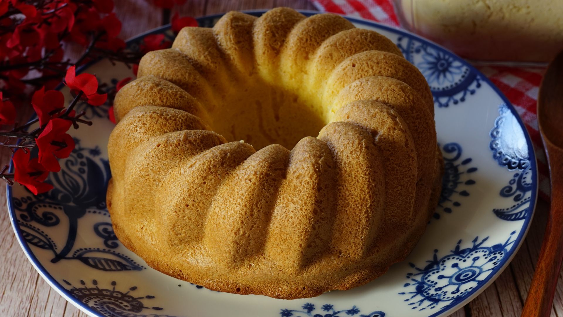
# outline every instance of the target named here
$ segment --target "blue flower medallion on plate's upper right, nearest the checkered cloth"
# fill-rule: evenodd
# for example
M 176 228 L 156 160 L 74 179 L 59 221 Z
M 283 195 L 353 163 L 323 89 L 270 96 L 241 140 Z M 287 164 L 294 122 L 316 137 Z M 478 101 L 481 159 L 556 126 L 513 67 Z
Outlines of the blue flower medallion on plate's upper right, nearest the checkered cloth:
M 412 37 L 400 36 L 396 44 L 425 76 L 437 107 L 462 103 L 481 87 L 481 77 L 457 56 Z

